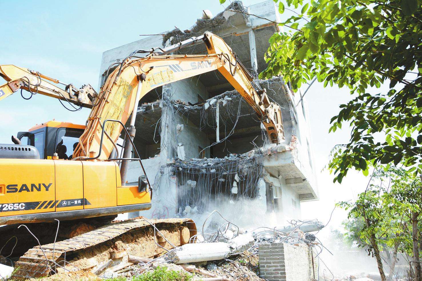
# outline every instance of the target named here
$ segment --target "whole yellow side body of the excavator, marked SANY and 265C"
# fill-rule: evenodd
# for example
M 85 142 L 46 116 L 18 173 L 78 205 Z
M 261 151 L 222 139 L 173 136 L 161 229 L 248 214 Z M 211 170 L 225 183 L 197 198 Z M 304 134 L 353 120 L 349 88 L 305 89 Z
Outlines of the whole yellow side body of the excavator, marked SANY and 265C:
M 13 222 L 22 215 L 33 214 L 29 221 L 35 222 L 51 221 L 64 211 L 111 207 L 113 213 L 124 213 L 132 210 L 128 206 L 142 204 L 145 207 L 141 208 L 150 208 L 149 190 L 139 192 L 138 186 L 121 186 L 116 162 L 0 159 L 0 170 L 0 218 L 11 217 Z M 139 209 L 133 209 L 136 208 Z M 85 212 L 80 217 L 98 212 L 101 211 Z M 7 224 L 8 219 L 1 222 Z

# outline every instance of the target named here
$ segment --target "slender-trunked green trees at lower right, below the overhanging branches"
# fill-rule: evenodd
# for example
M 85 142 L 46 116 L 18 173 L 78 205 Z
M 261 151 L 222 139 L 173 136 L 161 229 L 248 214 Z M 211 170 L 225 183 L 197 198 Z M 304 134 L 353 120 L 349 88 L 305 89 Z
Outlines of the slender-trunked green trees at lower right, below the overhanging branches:
M 403 168 L 379 168 L 355 203 L 341 202 L 349 210 L 345 227 L 359 246 L 376 258 L 381 279 L 386 280 L 381 251 L 392 252 L 390 278 L 398 251 L 412 257 L 416 281 L 421 281 L 418 224 L 421 220 L 422 188 L 419 178 Z M 362 223 L 363 222 L 363 223 Z M 390 279 L 391 280 L 391 279 Z

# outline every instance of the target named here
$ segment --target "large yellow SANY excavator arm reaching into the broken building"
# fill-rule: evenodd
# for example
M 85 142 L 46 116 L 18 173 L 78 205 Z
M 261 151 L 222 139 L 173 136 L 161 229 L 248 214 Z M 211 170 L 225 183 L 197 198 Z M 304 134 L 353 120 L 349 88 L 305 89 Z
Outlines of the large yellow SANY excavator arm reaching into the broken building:
M 200 40 L 206 44 L 206 55 L 170 54 Z M 106 79 L 97 101 L 98 106 L 92 108 L 87 129 L 79 138 L 73 155 L 78 159 L 88 156 L 100 160 L 108 159 L 123 128 L 117 122 L 108 122 L 104 128 L 108 138 L 104 138 L 101 145 L 102 124 L 105 120 L 114 119 L 125 124 L 130 114 L 136 111 L 139 100 L 152 89 L 213 70 L 219 70 L 254 108 L 265 125 L 271 142 L 283 141 L 280 106 L 268 100 L 265 89 L 260 89 L 257 84 L 254 85 L 257 89 L 254 88 L 252 76 L 223 39 L 207 32 L 165 49 L 151 49 L 146 57 L 130 56 L 124 59 Z M 134 125 L 134 118 L 131 125 Z

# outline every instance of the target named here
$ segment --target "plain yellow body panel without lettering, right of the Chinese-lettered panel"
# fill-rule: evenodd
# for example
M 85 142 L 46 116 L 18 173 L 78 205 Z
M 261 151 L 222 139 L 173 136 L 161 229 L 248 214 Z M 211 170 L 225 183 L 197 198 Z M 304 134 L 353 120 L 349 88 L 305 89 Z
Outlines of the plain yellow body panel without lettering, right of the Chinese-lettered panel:
M 116 206 L 116 162 L 83 161 L 82 165 L 86 200 L 84 209 Z

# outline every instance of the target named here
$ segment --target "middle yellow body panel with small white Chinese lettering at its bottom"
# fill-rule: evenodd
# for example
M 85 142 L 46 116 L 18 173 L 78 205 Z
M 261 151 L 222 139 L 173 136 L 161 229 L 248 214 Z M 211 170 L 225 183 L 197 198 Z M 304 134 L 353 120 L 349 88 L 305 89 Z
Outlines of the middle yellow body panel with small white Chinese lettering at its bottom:
M 54 160 L 56 168 L 56 211 L 84 208 L 84 178 L 81 161 Z

